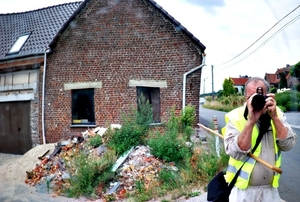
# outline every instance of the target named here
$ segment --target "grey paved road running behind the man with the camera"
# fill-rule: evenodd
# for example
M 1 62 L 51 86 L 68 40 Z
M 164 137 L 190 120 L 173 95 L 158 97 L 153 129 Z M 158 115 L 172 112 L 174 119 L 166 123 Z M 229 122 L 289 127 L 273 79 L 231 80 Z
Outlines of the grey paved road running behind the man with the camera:
M 211 127 L 213 116 L 217 116 L 219 129 L 225 125 L 225 112 L 200 108 L 200 123 Z M 300 201 L 300 113 L 286 113 L 287 120 L 298 135 L 295 147 L 288 152 L 282 152 L 282 175 L 279 194 L 286 202 Z

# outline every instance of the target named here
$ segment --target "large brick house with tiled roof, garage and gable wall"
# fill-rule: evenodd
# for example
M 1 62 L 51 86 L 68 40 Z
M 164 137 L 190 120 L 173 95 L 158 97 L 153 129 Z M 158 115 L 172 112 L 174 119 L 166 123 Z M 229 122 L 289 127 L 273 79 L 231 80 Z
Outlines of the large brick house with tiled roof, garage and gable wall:
M 205 46 L 153 0 L 0 14 L 0 26 L 0 152 L 121 123 L 141 94 L 153 123 L 167 121 L 173 106 L 199 111 Z

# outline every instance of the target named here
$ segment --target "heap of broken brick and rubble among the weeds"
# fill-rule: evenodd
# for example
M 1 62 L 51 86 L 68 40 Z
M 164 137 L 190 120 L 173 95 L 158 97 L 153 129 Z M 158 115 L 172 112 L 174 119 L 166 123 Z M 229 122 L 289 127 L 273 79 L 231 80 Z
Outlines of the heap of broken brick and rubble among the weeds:
M 119 126 L 114 126 L 119 127 Z M 67 169 L 68 161 L 78 155 L 80 151 L 88 151 L 91 156 L 101 158 L 107 148 L 104 144 L 97 148 L 88 146 L 90 137 L 100 135 L 105 139 L 106 129 L 95 128 L 74 136 L 67 141 L 58 142 L 54 151 L 49 155 L 49 150 L 38 157 L 39 161 L 32 171 L 26 171 L 25 183 L 35 186 L 39 183 L 46 183 L 56 194 L 61 194 L 62 187 L 70 186 L 69 179 L 76 169 Z M 158 173 L 164 167 L 163 163 L 150 154 L 147 146 L 131 148 L 123 154 L 113 165 L 112 172 L 116 174 L 114 182 L 110 187 L 101 189 L 105 193 L 98 193 L 100 197 L 114 195 L 115 198 L 122 198 L 125 193 L 134 192 L 136 183 L 141 182 L 144 188 L 149 188 L 157 182 Z M 107 191 L 108 190 L 108 191 Z

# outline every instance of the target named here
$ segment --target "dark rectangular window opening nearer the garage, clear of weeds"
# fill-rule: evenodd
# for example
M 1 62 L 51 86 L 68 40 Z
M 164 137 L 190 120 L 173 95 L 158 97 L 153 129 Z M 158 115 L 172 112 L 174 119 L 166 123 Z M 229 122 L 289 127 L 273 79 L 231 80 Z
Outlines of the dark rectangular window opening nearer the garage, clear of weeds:
M 95 125 L 94 89 L 72 90 L 72 125 Z

